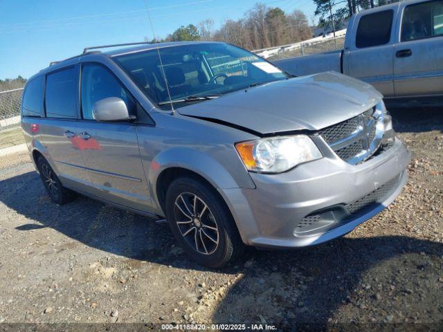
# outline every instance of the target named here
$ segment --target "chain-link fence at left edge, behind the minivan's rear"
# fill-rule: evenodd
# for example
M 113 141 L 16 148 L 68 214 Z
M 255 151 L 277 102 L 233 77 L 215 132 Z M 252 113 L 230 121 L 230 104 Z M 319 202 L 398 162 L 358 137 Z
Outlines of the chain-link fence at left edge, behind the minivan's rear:
M 0 177 L 30 162 L 20 127 L 22 94 L 23 88 L 0 91 Z

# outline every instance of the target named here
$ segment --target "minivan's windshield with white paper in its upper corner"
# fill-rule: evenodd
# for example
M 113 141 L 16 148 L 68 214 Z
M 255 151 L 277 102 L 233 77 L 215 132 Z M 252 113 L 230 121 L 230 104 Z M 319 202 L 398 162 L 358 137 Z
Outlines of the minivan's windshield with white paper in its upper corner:
M 174 108 L 249 86 L 289 77 L 279 68 L 242 48 L 228 44 L 189 44 L 159 49 Z M 115 60 L 150 100 L 170 109 L 156 49 L 118 55 Z M 190 98 L 191 97 L 191 98 Z

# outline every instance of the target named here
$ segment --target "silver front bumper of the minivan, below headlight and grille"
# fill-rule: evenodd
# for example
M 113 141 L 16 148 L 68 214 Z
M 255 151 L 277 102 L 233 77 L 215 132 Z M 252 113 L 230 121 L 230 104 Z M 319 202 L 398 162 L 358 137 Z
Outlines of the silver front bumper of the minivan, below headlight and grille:
M 395 138 L 390 149 L 360 165 L 327 154 L 283 174 L 251 173 L 257 186 L 253 190 L 235 188 L 220 193 L 244 243 L 280 248 L 311 246 L 351 232 L 392 203 L 406 183 L 409 160 L 409 151 Z M 336 213 L 388 183 L 389 190 L 378 197 L 377 203 L 353 214 Z M 338 217 L 325 227 L 298 231 L 306 217 L 319 214 Z

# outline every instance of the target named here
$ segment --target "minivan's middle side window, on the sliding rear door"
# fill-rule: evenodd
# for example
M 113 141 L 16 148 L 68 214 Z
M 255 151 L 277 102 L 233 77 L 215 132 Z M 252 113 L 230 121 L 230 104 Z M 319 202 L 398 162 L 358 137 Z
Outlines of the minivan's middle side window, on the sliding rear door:
M 68 68 L 46 76 L 46 116 L 48 118 L 76 118 L 75 68 Z

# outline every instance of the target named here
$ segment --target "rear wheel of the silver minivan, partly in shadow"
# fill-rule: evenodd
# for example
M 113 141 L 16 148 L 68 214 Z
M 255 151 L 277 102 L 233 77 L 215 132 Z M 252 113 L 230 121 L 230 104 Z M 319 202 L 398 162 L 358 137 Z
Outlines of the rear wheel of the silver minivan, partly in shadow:
M 37 167 L 44 188 L 46 189 L 46 193 L 55 203 L 62 205 L 75 199 L 75 192 L 63 187 L 57 174 L 55 174 L 51 165 L 48 164 L 45 158 L 39 157 L 37 160 Z

